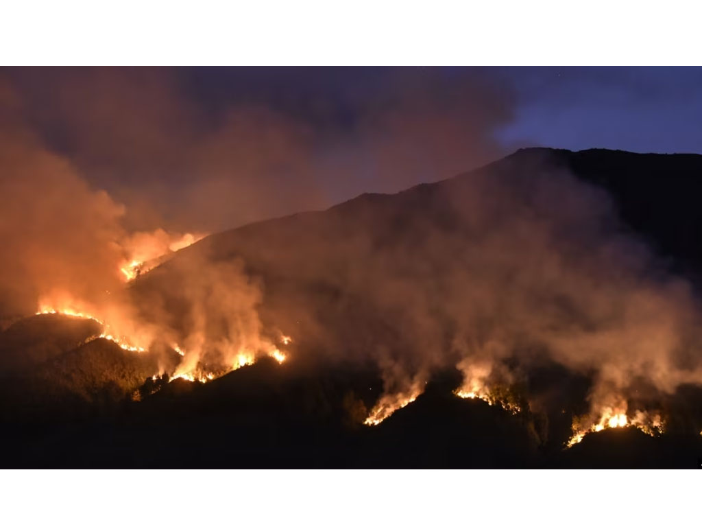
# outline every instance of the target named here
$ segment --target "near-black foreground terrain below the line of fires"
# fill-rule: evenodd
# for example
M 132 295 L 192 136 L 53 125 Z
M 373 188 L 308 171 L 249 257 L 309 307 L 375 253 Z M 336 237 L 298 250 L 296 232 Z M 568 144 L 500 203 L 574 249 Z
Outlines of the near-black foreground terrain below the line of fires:
M 653 438 L 636 429 L 589 434 L 565 449 L 571 414 L 548 422 L 545 415 L 512 415 L 457 398 L 450 375 L 439 376 L 377 427 L 367 427 L 362 419 L 380 390 L 376 382 L 364 391 L 373 378 L 369 372 L 328 370 L 324 377 L 306 377 L 289 371 L 261 360 L 207 384 L 149 381 L 141 401 L 105 386 L 91 403 L 57 393 L 37 407 L 15 388 L 12 408 L 3 409 L 2 465 L 696 468 L 702 456 L 702 437 Z

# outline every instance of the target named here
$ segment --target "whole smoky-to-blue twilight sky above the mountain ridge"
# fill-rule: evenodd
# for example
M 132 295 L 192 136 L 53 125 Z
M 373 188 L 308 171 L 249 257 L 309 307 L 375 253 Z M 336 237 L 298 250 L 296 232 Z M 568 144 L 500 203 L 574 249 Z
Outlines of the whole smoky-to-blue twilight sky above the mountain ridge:
M 691 67 L 4 68 L 0 127 L 6 152 L 48 152 L 124 204 L 128 228 L 212 231 L 528 145 L 702 152 L 699 86 Z

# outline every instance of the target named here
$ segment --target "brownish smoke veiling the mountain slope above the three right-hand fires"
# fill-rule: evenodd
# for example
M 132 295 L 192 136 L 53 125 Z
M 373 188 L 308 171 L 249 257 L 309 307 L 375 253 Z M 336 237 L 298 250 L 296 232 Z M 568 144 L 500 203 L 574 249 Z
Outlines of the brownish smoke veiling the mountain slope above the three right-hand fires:
M 528 160 L 223 233 L 192 254 L 241 256 L 264 277 L 265 318 L 319 356 L 376 364 L 386 393 L 370 423 L 439 370 L 493 400 L 550 362 L 592 377 L 578 431 L 658 430 L 662 398 L 702 380 L 691 287 L 625 231 L 606 191 Z

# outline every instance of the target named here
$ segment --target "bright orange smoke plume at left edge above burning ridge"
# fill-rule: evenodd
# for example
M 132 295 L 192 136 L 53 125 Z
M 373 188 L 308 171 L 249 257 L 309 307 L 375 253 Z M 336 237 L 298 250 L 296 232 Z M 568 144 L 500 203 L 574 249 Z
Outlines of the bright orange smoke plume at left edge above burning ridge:
M 0 90 L 2 311 L 32 312 L 53 289 L 95 301 L 119 283 L 114 242 L 124 208 L 42 148 L 18 119 L 16 93 L 5 83 Z

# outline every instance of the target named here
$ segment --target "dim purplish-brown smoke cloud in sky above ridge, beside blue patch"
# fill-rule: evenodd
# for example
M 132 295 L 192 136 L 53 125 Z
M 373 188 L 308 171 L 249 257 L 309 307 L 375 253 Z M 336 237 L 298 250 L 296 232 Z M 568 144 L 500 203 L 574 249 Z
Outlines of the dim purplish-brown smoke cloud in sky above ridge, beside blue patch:
M 232 75 L 234 77 L 232 77 Z M 213 232 L 498 157 L 483 70 L 5 70 L 22 117 L 135 230 Z

